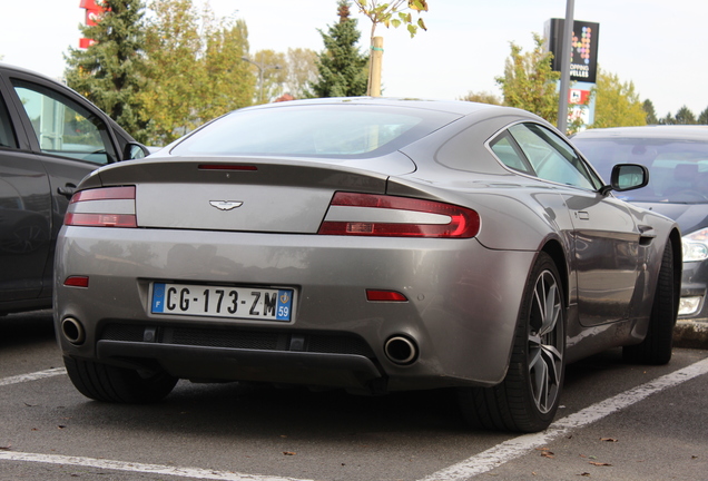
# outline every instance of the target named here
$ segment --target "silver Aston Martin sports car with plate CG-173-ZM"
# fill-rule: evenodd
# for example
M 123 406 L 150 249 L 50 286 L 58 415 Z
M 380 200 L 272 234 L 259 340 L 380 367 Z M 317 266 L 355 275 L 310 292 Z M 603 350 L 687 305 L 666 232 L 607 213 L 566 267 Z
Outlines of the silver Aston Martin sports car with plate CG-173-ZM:
M 676 223 L 617 199 L 548 122 L 463 101 L 228 114 L 78 187 L 56 324 L 86 396 L 178 379 L 456 387 L 474 426 L 543 430 L 567 363 L 671 357 Z

